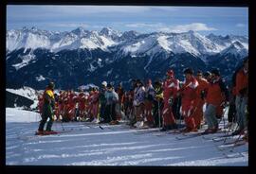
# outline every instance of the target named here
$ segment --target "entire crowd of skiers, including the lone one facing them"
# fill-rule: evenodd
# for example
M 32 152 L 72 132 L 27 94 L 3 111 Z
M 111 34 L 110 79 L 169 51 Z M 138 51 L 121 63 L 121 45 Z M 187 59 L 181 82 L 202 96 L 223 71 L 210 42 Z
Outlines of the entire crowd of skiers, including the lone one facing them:
M 229 90 L 218 69 L 193 73 L 192 68 L 184 70 L 185 81 L 180 82 L 173 70 L 168 70 L 164 81 L 151 79 L 145 82 L 132 80 L 132 89 L 117 89 L 106 81 L 100 89 L 89 92 L 60 92 L 54 95 L 54 83 L 50 82 L 43 96 L 39 96 L 42 121 L 36 134 L 56 133 L 51 130 L 53 115 L 61 121 L 87 121 L 119 124 L 120 119 L 129 120 L 132 127 L 156 128 L 162 131 L 177 130 L 177 119 L 184 119 L 182 132 L 197 131 L 202 124 L 208 128 L 203 133 L 219 130 L 218 119 L 229 105 L 229 124 L 238 124 L 233 134 L 247 129 L 248 60 L 233 75 Z M 205 110 L 203 110 L 205 107 Z M 46 120 L 46 131 L 44 126 Z

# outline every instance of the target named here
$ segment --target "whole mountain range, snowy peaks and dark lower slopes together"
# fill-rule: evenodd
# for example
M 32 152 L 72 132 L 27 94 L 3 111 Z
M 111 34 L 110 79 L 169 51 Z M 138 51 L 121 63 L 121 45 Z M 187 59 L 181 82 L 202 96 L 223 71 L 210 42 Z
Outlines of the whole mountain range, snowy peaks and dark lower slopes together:
M 7 31 L 6 39 L 7 84 L 35 89 L 45 88 L 49 79 L 61 88 L 101 85 L 101 80 L 128 85 L 132 78 L 163 78 L 170 68 L 182 78 L 188 66 L 194 71 L 222 67 L 223 76 L 230 77 L 248 53 L 246 36 L 194 31 L 143 34 L 78 27 L 52 32 L 24 27 Z

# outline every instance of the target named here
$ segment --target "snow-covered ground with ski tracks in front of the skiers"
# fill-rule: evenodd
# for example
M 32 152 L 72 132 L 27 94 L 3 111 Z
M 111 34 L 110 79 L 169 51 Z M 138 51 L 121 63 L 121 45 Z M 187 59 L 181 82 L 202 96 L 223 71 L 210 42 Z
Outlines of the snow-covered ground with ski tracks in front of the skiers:
M 57 135 L 34 136 L 39 114 L 6 109 L 6 165 L 248 165 L 247 145 L 234 148 L 245 156 L 226 158 L 218 142 L 174 134 L 155 136 L 117 126 L 69 122 Z M 53 124 L 62 130 L 61 123 Z

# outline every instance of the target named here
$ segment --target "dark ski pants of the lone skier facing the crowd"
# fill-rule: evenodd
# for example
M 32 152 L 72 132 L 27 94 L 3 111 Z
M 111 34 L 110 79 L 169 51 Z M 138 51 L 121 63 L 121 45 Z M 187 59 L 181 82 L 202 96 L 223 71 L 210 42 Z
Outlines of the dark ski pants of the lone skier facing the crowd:
M 51 106 L 43 106 L 43 113 L 42 113 L 42 120 L 40 121 L 38 130 L 43 131 L 46 125 L 46 121 L 49 118 L 49 121 L 46 126 L 46 131 L 50 131 L 52 124 L 53 124 L 53 117 L 52 117 L 52 109 Z

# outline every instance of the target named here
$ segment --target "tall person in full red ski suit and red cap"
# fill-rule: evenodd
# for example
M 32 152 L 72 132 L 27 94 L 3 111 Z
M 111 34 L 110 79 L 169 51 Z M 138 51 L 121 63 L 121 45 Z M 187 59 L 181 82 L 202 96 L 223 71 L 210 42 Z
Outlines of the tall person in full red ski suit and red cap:
M 174 114 L 172 111 L 172 107 L 174 104 L 174 98 L 176 97 L 176 93 L 179 89 L 178 80 L 174 78 L 174 71 L 169 70 L 167 73 L 167 79 L 164 81 L 163 88 L 163 128 L 162 131 L 177 129 L 176 121 L 174 118 Z

